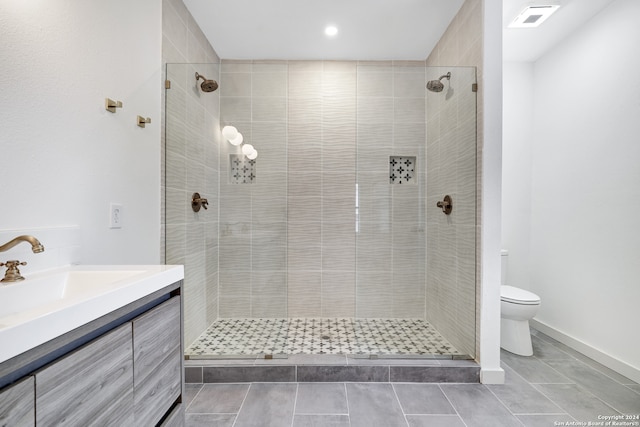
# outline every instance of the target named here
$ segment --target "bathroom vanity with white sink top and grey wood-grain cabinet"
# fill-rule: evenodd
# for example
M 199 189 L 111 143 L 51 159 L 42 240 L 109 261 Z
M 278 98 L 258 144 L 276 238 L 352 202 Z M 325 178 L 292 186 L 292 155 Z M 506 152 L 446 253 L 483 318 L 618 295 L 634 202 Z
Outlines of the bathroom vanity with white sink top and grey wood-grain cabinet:
M 122 268 L 136 273 L 75 294 L 68 275 L 68 301 L 0 316 L 2 356 L 20 351 L 0 361 L 0 425 L 183 425 L 183 269 Z M 12 329 L 47 328 L 43 318 L 68 330 L 50 339 L 32 330 L 42 342 L 12 345 Z

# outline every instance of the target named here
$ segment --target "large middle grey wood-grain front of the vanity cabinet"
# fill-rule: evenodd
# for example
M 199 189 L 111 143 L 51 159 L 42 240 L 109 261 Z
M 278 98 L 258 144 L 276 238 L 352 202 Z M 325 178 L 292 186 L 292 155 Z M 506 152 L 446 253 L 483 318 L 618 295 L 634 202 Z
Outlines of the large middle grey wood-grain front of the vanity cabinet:
M 37 372 L 36 423 L 133 425 L 131 323 Z

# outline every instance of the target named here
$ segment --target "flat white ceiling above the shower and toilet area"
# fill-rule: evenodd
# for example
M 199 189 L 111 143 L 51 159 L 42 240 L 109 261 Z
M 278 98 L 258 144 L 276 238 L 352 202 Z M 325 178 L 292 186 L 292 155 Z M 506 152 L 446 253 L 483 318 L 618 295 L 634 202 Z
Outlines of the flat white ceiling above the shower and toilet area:
M 503 58 L 535 61 L 614 0 L 551 0 L 535 29 L 507 25 L 528 4 L 503 1 Z M 464 0 L 184 0 L 224 59 L 424 60 Z M 549 3 L 547 1 L 547 3 Z M 338 34 L 327 37 L 327 25 Z

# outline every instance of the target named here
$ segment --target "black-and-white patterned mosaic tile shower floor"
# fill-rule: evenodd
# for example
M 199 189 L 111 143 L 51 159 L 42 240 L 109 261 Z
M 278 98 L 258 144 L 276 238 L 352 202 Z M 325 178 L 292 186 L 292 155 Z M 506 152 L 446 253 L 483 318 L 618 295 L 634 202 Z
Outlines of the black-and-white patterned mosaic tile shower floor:
M 422 319 L 220 319 L 185 351 L 189 359 L 262 354 L 461 355 Z

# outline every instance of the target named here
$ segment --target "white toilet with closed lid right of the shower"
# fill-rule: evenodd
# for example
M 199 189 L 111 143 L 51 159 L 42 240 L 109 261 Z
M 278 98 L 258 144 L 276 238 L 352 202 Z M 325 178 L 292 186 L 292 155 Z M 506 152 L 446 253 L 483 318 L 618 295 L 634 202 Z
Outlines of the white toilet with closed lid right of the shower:
M 533 355 L 529 319 L 540 308 L 540 297 L 533 292 L 506 285 L 509 252 L 502 250 L 500 286 L 500 347 L 520 356 Z

